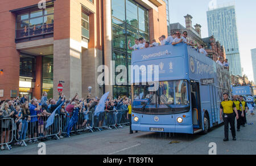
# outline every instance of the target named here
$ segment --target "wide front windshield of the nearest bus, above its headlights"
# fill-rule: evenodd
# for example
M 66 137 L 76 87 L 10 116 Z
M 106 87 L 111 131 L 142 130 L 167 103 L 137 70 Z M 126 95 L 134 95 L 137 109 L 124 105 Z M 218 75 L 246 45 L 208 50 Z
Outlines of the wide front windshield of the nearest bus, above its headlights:
M 170 113 L 189 108 L 187 80 L 159 82 L 157 91 L 148 91 L 148 85 L 133 88 L 133 109 L 142 112 Z M 150 100 L 150 101 L 149 101 Z

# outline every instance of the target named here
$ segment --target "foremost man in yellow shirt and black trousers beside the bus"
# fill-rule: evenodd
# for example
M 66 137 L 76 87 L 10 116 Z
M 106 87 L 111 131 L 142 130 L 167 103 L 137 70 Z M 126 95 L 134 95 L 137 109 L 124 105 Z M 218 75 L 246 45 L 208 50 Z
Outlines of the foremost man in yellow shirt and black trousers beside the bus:
M 229 100 L 228 93 L 223 94 L 224 100 L 220 104 L 220 120 L 224 120 L 224 132 L 225 132 L 225 138 L 223 141 L 229 141 L 229 124 L 231 127 L 231 133 L 233 137 L 233 141 L 236 141 L 236 129 L 234 127 L 234 111 L 236 112 L 236 118 L 238 119 L 238 113 L 236 109 L 236 105 L 232 100 Z M 222 114 L 223 112 L 223 114 Z

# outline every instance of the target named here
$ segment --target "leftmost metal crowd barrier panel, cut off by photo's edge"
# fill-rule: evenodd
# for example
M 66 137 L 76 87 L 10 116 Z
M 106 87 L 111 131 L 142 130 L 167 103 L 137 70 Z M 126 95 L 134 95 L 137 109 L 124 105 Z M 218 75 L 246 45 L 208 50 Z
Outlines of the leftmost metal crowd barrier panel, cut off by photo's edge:
M 13 127 L 14 125 L 13 118 L 2 118 L 0 119 L 0 135 L 1 142 L 0 146 L 6 145 L 6 147 L 10 150 L 9 143 L 13 142 L 14 134 Z

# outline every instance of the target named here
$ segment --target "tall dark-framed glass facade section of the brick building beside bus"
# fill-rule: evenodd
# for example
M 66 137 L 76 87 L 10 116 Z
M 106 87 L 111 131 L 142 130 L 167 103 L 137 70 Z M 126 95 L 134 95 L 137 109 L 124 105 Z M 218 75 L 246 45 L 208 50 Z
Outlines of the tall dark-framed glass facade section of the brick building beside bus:
M 141 37 L 150 41 L 148 10 L 133 0 L 112 0 L 112 60 L 115 61 L 115 68 L 125 65 L 126 69 L 129 69 L 131 50 L 127 46 L 128 41 L 130 40 L 130 46 L 133 46 L 134 39 Z M 127 85 L 113 87 L 114 97 L 129 96 L 129 73 L 127 71 Z

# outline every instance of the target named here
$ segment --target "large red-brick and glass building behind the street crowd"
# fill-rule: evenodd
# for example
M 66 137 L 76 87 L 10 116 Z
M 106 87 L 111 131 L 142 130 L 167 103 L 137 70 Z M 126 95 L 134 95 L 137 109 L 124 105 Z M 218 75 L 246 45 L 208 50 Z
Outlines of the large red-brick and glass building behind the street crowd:
M 129 66 L 129 40 L 133 45 L 139 37 L 158 40 L 167 35 L 163 0 L 39 2 L 44 1 L 1 0 L 1 100 L 23 95 L 40 99 L 43 92 L 56 98 L 59 82 L 64 82 L 67 99 L 76 92 L 86 97 L 89 86 L 93 96 L 129 95 L 128 85 L 98 84 L 103 71 L 98 67 L 106 65 L 110 71 L 112 60 L 115 66 Z

